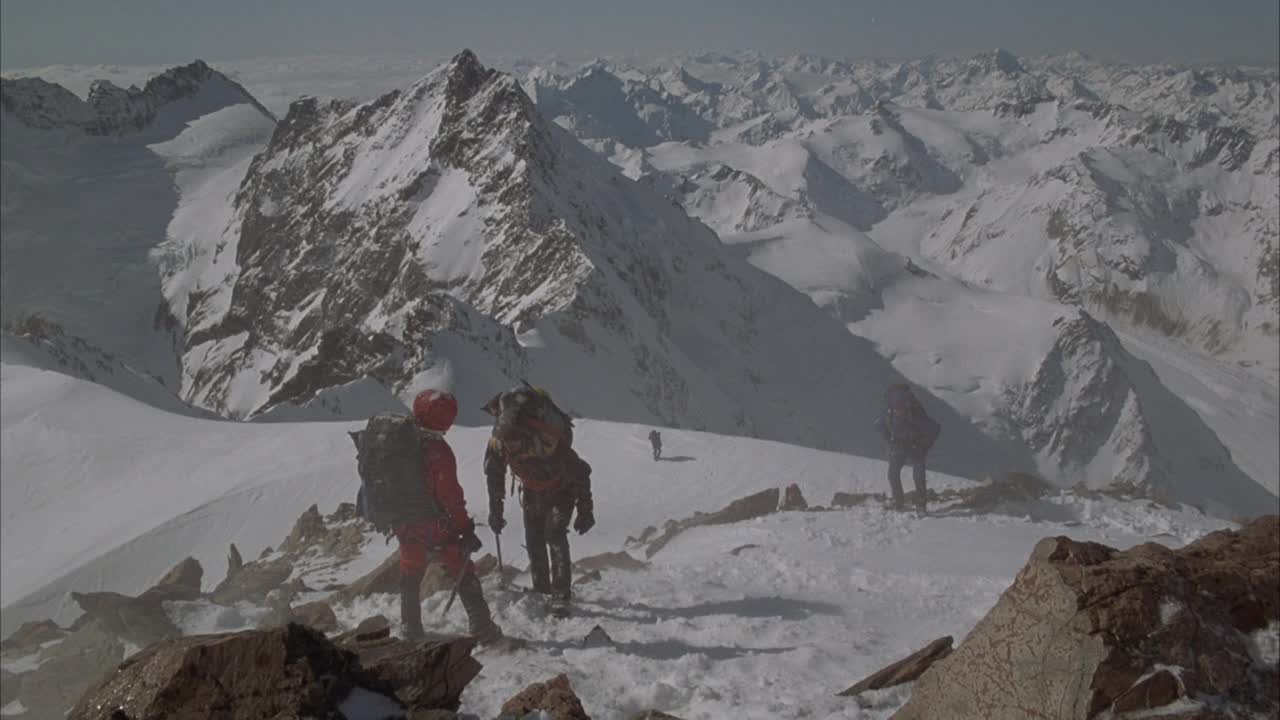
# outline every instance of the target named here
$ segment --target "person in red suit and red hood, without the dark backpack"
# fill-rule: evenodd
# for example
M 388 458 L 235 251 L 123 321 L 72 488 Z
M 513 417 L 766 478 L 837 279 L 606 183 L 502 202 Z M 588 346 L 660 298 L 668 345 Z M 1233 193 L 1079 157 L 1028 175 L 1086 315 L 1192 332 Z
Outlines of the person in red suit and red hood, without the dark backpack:
M 475 521 L 467 515 L 466 497 L 458 484 L 453 448 L 444 439 L 444 433 L 453 425 L 457 414 L 458 401 L 448 392 L 425 389 L 413 398 L 413 420 L 417 424 L 420 438 L 417 446 L 425 460 L 425 469 L 419 470 L 422 473 L 424 484 L 415 489 L 430 498 L 429 505 L 434 507 L 434 511 L 419 515 L 421 519 L 392 523 L 392 530 L 399 544 L 401 620 L 404 624 L 406 637 L 421 638 L 425 635 L 420 589 L 428 565 L 439 562 L 444 565 L 449 579 L 456 583 L 458 598 L 467 614 L 470 634 L 481 644 L 492 644 L 500 641 L 503 634 L 502 629 L 493 621 L 489 603 L 485 602 L 480 579 L 475 573 L 475 564 L 471 562 L 470 555 L 480 550 L 481 542 L 476 537 Z M 370 420 L 371 424 L 372 421 Z M 366 434 L 369 432 L 369 429 L 365 430 Z M 355 436 L 356 433 L 353 433 Z M 372 454 L 372 450 L 366 450 L 369 445 L 371 442 L 356 438 L 356 446 L 362 456 Z M 364 465 L 365 459 L 362 457 L 361 461 Z M 369 480 L 365 479 L 364 470 L 361 478 L 365 483 L 362 491 L 369 489 Z M 364 498 L 371 500 L 371 496 L 372 493 L 369 493 Z M 393 503 L 399 506 L 422 500 L 421 496 L 397 498 L 394 495 L 390 498 Z M 394 509 L 387 509 L 385 512 L 389 516 L 396 516 Z

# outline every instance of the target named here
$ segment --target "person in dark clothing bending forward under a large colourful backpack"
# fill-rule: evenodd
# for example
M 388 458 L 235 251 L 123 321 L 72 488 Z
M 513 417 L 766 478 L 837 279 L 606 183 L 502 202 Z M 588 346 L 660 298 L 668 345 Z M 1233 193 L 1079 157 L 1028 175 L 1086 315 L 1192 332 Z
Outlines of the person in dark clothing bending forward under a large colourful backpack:
M 570 518 L 576 510 L 579 534 L 595 525 L 591 466 L 573 451 L 573 421 L 545 389 L 527 383 L 498 393 L 484 410 L 494 418 L 484 456 L 489 527 L 500 533 L 507 525 L 503 502 L 511 468 L 520 484 L 532 589 L 552 596 L 557 614 L 567 614 L 572 600 Z

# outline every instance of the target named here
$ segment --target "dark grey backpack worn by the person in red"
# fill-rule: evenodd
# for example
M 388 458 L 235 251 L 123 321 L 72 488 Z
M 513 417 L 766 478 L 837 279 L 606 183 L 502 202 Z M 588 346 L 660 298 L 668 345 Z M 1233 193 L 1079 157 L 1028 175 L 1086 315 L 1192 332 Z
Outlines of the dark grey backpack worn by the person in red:
M 412 416 L 381 413 L 364 430 L 349 434 L 360 471 L 356 509 L 361 518 L 387 533 L 444 515 L 428 492 L 424 433 Z

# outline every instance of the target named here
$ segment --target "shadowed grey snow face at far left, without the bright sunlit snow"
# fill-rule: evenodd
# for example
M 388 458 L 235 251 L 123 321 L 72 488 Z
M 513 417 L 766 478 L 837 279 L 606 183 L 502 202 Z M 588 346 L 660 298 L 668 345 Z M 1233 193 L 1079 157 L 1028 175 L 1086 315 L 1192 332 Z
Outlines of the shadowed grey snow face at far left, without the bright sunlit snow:
M 32 131 L 8 111 L 0 138 L 6 169 L 20 172 L 6 174 L 0 215 L 5 323 L 40 315 L 99 347 L 134 348 L 140 369 L 174 387 L 170 341 L 151 322 L 161 293 L 148 252 L 177 206 L 163 160 L 140 142 Z

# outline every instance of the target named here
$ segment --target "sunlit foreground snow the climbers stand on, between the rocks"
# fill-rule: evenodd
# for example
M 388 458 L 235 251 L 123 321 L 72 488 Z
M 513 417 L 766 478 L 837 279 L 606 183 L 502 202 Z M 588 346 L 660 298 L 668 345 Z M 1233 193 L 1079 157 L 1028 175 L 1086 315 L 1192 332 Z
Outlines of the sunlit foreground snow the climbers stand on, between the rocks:
M 12 357 L 0 373 L 4 633 L 37 618 L 67 623 L 76 615 L 68 591 L 138 592 L 187 555 L 205 566 L 209 588 L 225 571 L 229 542 L 255 557 L 312 502 L 328 512 L 353 495 L 347 423 L 200 420 Z M 581 423 L 576 445 L 595 466 L 599 524 L 573 537 L 575 556 L 621 550 L 646 525 L 768 487 L 795 482 L 810 502 L 824 503 L 836 491 L 884 486 L 879 461 L 684 430 L 664 432 L 669 460 L 654 462 L 645 432 Z M 483 428 L 449 434 L 472 511 L 485 505 L 485 436 Z M 931 483 L 965 480 L 934 474 Z M 508 519 L 506 557 L 522 566 L 520 514 Z M 485 667 L 462 710 L 493 716 L 518 688 L 564 671 L 599 717 L 657 707 L 689 719 L 882 719 L 906 700 L 906 688 L 860 700 L 835 693 L 936 637 L 963 637 L 1037 539 L 1176 546 L 1225 525 L 1192 510 L 1061 496 L 1000 515 L 916 519 L 872 503 L 699 528 L 645 570 L 605 571 L 577 585 L 570 620 L 548 619 L 532 598 L 490 579 L 497 620 L 530 647 L 481 653 Z M 490 544 L 488 533 L 481 537 Z M 372 543 L 348 574 L 388 551 Z M 461 632 L 460 609 L 440 619 L 444 594 L 426 600 L 425 616 L 433 629 Z M 394 602 L 375 597 L 343 609 L 340 620 L 394 616 Z M 234 629 L 236 618 L 255 618 L 252 609 L 218 618 L 174 611 L 188 632 Z M 596 624 L 614 646 L 581 647 Z

